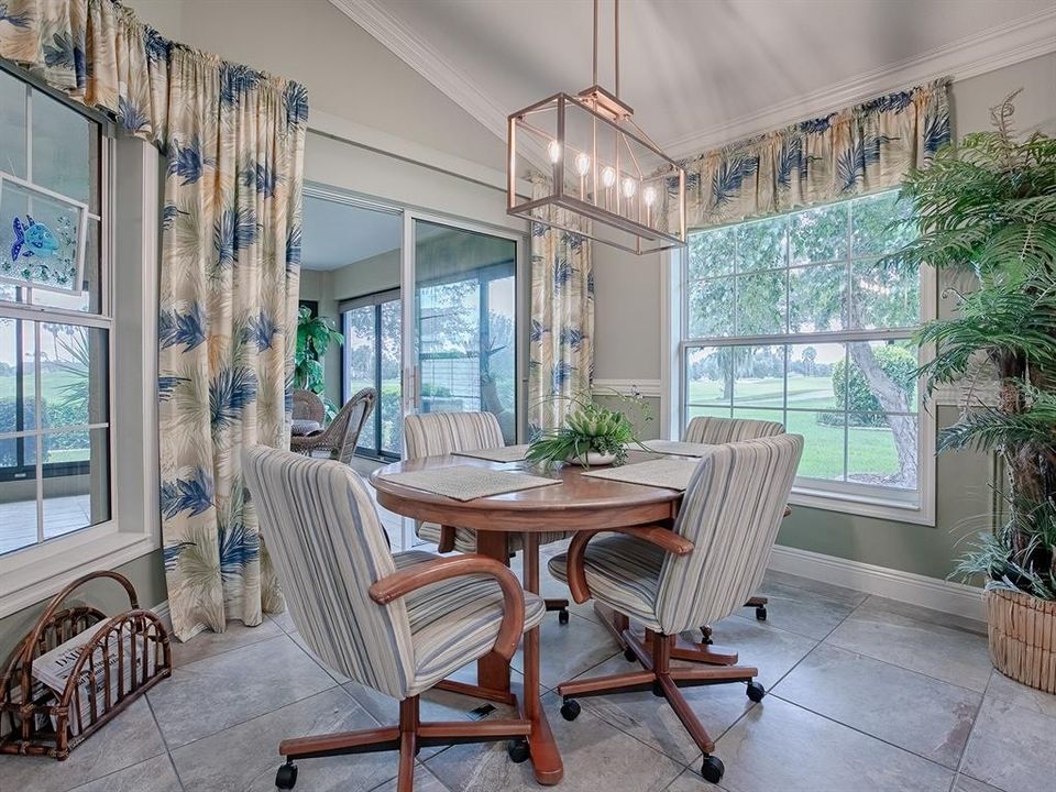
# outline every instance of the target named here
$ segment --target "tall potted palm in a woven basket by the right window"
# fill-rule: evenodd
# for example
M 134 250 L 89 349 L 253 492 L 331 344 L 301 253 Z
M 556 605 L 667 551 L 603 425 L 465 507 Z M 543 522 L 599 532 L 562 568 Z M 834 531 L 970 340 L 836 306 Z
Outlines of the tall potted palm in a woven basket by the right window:
M 1016 135 L 1013 94 L 993 131 L 967 135 L 914 172 L 902 198 L 920 235 L 889 267 L 932 265 L 971 286 L 954 315 L 919 333 L 934 344 L 927 392 L 965 387 L 937 450 L 996 452 L 1007 471 L 1000 526 L 957 573 L 986 581 L 990 654 L 999 671 L 1056 692 L 1056 139 Z M 997 396 L 979 397 L 983 383 Z M 989 388 L 991 392 L 993 388 Z

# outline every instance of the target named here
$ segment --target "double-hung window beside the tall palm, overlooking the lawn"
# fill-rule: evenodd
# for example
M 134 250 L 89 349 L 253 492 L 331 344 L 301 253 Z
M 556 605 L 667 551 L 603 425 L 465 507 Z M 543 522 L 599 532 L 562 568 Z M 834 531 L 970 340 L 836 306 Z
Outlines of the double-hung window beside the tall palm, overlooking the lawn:
M 681 418 L 780 421 L 804 438 L 800 503 L 927 522 L 911 337 L 933 296 L 877 266 L 912 239 L 905 212 L 887 191 L 692 233 Z

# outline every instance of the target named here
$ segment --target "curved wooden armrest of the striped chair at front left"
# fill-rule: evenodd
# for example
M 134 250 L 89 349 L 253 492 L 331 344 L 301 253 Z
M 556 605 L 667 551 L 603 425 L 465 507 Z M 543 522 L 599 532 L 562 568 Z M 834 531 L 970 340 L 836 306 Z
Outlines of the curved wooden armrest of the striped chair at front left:
M 375 582 L 370 588 L 371 600 L 378 605 L 387 605 L 430 583 L 470 574 L 491 575 L 503 592 L 503 622 L 498 626 L 493 650 L 509 660 L 525 631 L 525 590 L 509 568 L 495 559 L 480 553 L 465 553 L 415 564 Z

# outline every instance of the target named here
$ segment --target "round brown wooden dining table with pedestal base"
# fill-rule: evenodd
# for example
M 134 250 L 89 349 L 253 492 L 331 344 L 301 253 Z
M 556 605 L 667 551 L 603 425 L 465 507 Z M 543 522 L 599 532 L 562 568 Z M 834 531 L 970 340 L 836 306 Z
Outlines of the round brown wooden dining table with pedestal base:
M 631 452 L 629 461 L 654 457 Z M 579 465 L 565 465 L 550 473 L 532 469 L 535 475 L 560 479 L 554 486 L 521 490 L 505 495 L 454 501 L 442 495 L 413 490 L 386 481 L 385 475 L 410 471 L 476 465 L 496 470 L 517 470 L 524 462 L 488 462 L 470 457 L 426 457 L 395 462 L 371 474 L 377 491 L 377 503 L 398 515 L 426 522 L 477 531 L 476 550 L 504 564 L 509 562 L 507 537 L 520 534 L 525 549 L 524 580 L 526 591 L 539 593 L 539 534 L 618 528 L 646 524 L 670 524 L 678 513 L 682 493 L 675 490 L 624 484 L 584 476 Z M 481 695 L 495 701 L 517 703 L 522 716 L 531 722 L 528 737 L 536 780 L 556 784 L 563 768 L 550 724 L 539 705 L 539 628 L 525 634 L 525 683 L 519 697 L 510 690 L 509 667 L 496 654 L 477 661 L 477 685 L 444 683 L 447 690 Z

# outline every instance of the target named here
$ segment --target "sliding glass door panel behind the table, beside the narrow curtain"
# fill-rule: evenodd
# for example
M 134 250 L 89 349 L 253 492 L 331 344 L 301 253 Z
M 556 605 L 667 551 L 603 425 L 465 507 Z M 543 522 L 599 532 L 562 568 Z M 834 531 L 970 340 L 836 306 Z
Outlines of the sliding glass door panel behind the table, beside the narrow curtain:
M 518 436 L 517 240 L 414 218 L 413 409 L 492 413 Z

